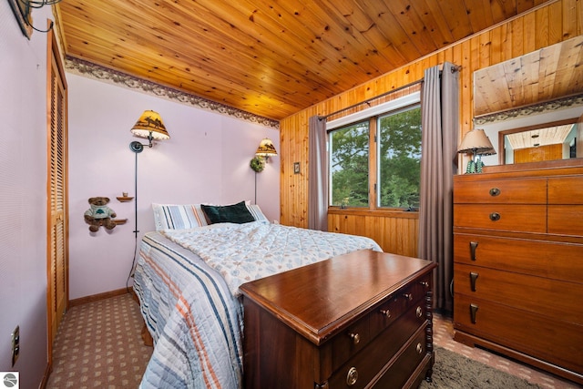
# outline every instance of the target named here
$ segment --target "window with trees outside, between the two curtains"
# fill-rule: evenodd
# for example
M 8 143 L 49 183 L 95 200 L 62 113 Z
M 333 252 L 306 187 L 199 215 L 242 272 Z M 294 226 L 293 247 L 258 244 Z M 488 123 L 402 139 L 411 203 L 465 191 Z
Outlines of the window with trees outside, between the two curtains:
M 419 208 L 421 106 L 415 97 L 330 130 L 331 206 Z

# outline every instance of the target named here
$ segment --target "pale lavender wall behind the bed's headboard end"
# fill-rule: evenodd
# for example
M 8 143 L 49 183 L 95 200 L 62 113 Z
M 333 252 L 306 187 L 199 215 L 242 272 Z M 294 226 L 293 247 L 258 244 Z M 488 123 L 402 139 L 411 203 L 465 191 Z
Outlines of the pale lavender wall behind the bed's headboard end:
M 145 109 L 159 112 L 170 139 L 138 154 L 138 239 L 154 230 L 151 204 L 221 203 L 254 200 L 249 167 L 261 139 L 279 149 L 279 131 L 201 110 L 137 90 L 67 73 L 69 135 L 70 299 L 126 287 L 135 245 L 135 154 L 130 128 Z M 280 159 L 257 177 L 257 203 L 279 220 Z M 118 219 L 114 230 L 88 230 L 87 199 L 106 196 Z M 129 284 L 131 281 L 129 282 Z

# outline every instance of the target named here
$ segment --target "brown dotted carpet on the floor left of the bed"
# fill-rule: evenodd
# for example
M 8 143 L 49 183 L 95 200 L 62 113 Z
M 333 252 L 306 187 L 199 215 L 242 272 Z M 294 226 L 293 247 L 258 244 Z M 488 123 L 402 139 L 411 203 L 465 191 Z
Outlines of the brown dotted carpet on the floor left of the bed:
M 137 388 L 152 354 L 142 326 L 130 294 L 71 308 L 56 334 L 47 389 Z

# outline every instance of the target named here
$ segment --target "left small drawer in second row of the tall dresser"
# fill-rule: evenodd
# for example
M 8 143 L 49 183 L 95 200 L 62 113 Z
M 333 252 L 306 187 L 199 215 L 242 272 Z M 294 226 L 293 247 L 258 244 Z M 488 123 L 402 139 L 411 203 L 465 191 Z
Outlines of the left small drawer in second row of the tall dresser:
M 545 233 L 547 232 L 547 206 L 455 204 L 454 226 Z

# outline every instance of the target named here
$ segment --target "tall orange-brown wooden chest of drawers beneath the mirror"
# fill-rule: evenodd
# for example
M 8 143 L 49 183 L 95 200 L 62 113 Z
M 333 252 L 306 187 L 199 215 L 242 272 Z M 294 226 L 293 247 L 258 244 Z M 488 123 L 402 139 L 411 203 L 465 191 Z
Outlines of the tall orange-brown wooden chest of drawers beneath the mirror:
M 455 340 L 583 384 L 583 167 L 500 170 L 454 178 Z

